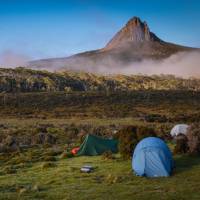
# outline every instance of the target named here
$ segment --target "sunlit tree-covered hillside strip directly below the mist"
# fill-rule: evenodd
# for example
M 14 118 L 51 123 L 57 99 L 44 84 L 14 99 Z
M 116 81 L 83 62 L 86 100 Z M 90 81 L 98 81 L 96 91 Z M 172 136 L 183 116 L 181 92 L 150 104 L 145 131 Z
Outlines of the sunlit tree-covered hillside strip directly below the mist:
M 199 79 L 172 75 L 97 75 L 86 72 L 0 69 L 0 92 L 200 90 Z

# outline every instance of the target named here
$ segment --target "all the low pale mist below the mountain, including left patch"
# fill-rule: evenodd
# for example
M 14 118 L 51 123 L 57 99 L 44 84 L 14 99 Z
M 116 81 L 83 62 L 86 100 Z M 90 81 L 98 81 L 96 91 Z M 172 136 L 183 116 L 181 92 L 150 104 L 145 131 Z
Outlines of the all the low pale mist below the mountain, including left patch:
M 0 54 L 1 67 L 17 67 L 28 66 L 30 57 L 16 54 L 12 51 L 5 51 Z M 73 58 L 68 65 L 65 65 L 66 59 L 50 60 L 47 63 L 42 63 L 42 66 L 29 66 L 33 69 L 45 69 L 48 71 L 86 71 L 103 75 L 110 74 L 143 74 L 143 75 L 160 75 L 173 74 L 178 77 L 200 77 L 200 51 L 181 52 L 170 56 L 169 58 L 155 61 L 144 59 L 140 62 L 132 62 L 123 64 L 119 59 L 106 57 L 105 59 L 94 62 L 89 58 Z M 69 64 L 70 63 L 70 64 Z

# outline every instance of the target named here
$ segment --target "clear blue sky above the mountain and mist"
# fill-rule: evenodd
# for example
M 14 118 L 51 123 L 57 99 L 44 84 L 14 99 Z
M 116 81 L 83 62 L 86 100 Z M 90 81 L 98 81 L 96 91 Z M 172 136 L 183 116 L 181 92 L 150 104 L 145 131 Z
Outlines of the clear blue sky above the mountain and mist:
M 39 59 L 101 48 L 132 16 L 163 40 L 200 47 L 199 0 L 0 0 L 0 54 Z

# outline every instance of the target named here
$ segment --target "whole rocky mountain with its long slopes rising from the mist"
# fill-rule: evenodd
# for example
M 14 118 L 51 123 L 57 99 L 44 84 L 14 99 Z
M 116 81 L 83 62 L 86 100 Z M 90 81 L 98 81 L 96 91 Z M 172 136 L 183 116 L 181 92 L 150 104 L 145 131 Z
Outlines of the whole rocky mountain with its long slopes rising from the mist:
M 138 17 L 133 17 L 102 49 L 66 58 L 31 61 L 29 67 L 96 72 L 104 68 L 125 67 L 132 62 L 144 59 L 160 60 L 178 52 L 192 50 L 195 49 L 164 42 L 150 32 L 146 22 L 142 22 Z

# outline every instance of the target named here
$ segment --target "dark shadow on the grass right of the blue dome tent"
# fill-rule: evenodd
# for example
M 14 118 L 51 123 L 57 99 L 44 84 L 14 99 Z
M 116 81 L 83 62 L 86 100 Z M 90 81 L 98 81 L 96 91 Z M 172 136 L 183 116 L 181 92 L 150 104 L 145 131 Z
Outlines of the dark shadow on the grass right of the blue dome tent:
M 181 155 L 176 156 L 174 158 L 175 162 L 175 168 L 174 172 L 175 174 L 183 173 L 185 171 L 192 170 L 195 166 L 200 166 L 200 156 L 191 156 L 191 155 Z

